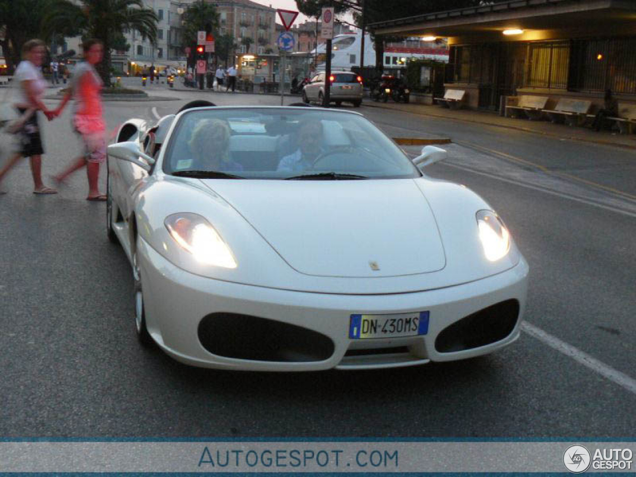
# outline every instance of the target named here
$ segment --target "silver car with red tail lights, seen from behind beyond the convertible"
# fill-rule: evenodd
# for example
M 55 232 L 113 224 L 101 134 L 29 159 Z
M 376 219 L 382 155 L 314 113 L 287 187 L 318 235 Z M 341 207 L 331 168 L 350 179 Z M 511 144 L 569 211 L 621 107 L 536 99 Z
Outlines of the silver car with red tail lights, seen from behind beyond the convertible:
M 312 101 L 322 104 L 324 99 L 324 71 L 317 73 L 311 81 L 303 88 L 303 101 Z M 363 87 L 362 78 L 350 71 L 335 71 L 331 73 L 331 87 L 329 88 L 329 102 L 335 102 L 340 106 L 343 101 L 349 101 L 354 106 L 362 104 Z

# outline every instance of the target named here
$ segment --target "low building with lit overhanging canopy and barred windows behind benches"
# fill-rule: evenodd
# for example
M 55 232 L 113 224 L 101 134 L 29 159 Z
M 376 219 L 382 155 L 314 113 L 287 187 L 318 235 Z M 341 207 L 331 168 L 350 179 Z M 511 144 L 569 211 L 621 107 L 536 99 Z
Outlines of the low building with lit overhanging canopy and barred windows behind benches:
M 375 34 L 448 38 L 445 88 L 467 106 L 504 97 L 591 100 L 611 89 L 636 104 L 636 0 L 509 0 L 370 25 Z

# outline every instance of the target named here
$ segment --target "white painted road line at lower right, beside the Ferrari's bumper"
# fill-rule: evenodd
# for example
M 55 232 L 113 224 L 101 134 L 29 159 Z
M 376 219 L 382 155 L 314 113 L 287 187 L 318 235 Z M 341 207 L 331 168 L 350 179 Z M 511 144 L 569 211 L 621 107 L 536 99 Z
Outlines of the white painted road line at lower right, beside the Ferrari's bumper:
M 607 364 L 602 363 L 602 361 L 598 361 L 598 359 L 590 356 L 586 352 L 581 351 L 578 348 L 569 345 L 568 343 L 562 342 L 555 336 L 546 333 L 545 331 L 543 331 L 543 329 L 537 328 L 527 321 L 522 322 L 521 328 L 523 331 L 525 331 L 525 333 L 528 333 L 530 336 L 548 345 L 552 349 L 565 354 L 565 356 L 571 357 L 577 363 L 583 364 L 583 366 L 590 368 L 590 370 L 598 373 L 602 377 L 609 379 L 610 381 L 618 384 L 627 391 L 636 394 L 636 380 L 630 378 L 625 373 L 614 370 L 614 368 L 612 368 L 611 366 L 607 366 Z

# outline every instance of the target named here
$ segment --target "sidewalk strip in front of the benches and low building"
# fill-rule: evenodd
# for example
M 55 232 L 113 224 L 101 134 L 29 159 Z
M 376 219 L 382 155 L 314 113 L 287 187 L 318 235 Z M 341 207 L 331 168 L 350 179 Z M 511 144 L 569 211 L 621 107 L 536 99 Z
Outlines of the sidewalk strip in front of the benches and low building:
M 530 121 L 517 118 L 504 118 L 490 111 L 473 111 L 471 109 L 448 109 L 438 104 L 381 103 L 371 99 L 364 99 L 364 106 L 393 109 L 403 113 L 420 114 L 434 118 L 444 118 L 456 121 L 466 121 L 488 126 L 516 129 L 534 134 L 541 134 L 558 139 L 572 141 L 608 144 L 622 148 L 636 149 L 636 134 L 618 134 L 618 132 L 596 132 L 591 128 L 570 127 L 563 124 L 553 124 L 550 121 Z

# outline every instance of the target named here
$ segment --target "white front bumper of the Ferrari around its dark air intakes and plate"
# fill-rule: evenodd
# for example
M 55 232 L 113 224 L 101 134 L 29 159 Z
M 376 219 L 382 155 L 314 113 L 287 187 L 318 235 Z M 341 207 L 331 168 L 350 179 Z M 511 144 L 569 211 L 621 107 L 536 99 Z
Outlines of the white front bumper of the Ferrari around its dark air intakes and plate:
M 523 258 L 506 272 L 459 286 L 418 293 L 342 295 L 270 289 L 200 277 L 173 265 L 144 240 L 139 242 L 148 331 L 167 354 L 193 366 L 252 371 L 410 366 L 488 354 L 514 342 L 520 333 L 529 270 Z M 518 302 L 518 319 L 504 338 L 473 349 L 450 352 L 436 349 L 436 338 L 448 326 L 506 300 Z M 426 335 L 349 338 L 351 314 L 425 310 L 430 312 Z M 202 319 L 215 313 L 259 317 L 312 330 L 333 342 L 333 352 L 320 361 L 259 361 L 218 356 L 205 349 L 198 335 Z

